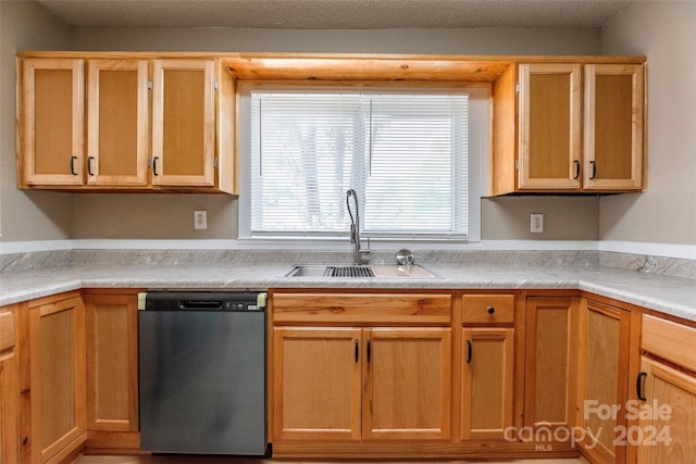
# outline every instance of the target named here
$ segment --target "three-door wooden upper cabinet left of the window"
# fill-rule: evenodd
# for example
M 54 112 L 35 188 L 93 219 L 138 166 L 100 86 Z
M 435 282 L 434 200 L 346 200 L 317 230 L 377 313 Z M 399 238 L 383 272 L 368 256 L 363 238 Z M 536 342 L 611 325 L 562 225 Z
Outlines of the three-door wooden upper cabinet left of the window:
M 20 188 L 236 192 L 226 68 L 133 57 L 18 59 Z

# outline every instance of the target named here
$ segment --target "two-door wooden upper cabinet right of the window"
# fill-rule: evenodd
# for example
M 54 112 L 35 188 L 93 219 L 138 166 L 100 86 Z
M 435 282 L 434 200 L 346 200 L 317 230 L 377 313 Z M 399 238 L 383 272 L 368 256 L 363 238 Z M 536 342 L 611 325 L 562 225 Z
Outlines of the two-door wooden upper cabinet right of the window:
M 531 63 L 495 83 L 493 195 L 644 189 L 644 65 Z

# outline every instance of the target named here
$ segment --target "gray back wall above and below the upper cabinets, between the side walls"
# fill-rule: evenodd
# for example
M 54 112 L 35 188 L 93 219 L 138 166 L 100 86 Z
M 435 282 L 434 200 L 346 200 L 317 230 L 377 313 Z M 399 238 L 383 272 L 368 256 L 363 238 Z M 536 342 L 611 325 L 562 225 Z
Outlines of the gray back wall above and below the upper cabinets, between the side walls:
M 281 30 L 224 28 L 78 28 L 75 50 L 374 52 L 434 54 L 598 54 L 599 30 L 475 28 Z M 75 238 L 235 238 L 236 200 L 187 196 L 74 197 Z M 484 239 L 596 240 L 596 198 L 482 200 Z M 203 204 L 203 205 L 201 205 Z M 192 230 L 195 209 L 209 229 Z M 568 214 L 575 211 L 577 214 Z M 103 213 L 108 212 L 108 213 Z M 544 234 L 529 233 L 529 213 L 546 215 Z M 95 220 L 98 220 L 97 222 Z

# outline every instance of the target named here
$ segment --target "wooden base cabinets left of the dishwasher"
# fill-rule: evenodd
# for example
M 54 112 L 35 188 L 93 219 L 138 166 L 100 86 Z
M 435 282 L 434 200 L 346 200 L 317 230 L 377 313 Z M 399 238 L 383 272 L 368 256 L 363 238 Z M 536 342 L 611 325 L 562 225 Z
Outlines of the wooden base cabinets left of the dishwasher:
M 73 291 L 7 314 L 16 343 L 0 350 L 2 462 L 62 463 L 110 434 L 137 448 L 137 294 Z

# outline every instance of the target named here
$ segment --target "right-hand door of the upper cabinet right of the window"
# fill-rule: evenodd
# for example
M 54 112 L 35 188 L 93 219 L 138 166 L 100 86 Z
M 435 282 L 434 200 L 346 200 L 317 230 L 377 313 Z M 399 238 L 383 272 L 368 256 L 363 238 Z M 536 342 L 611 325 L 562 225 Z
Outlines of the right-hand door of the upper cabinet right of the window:
M 643 187 L 643 73 L 638 64 L 585 65 L 583 188 Z

